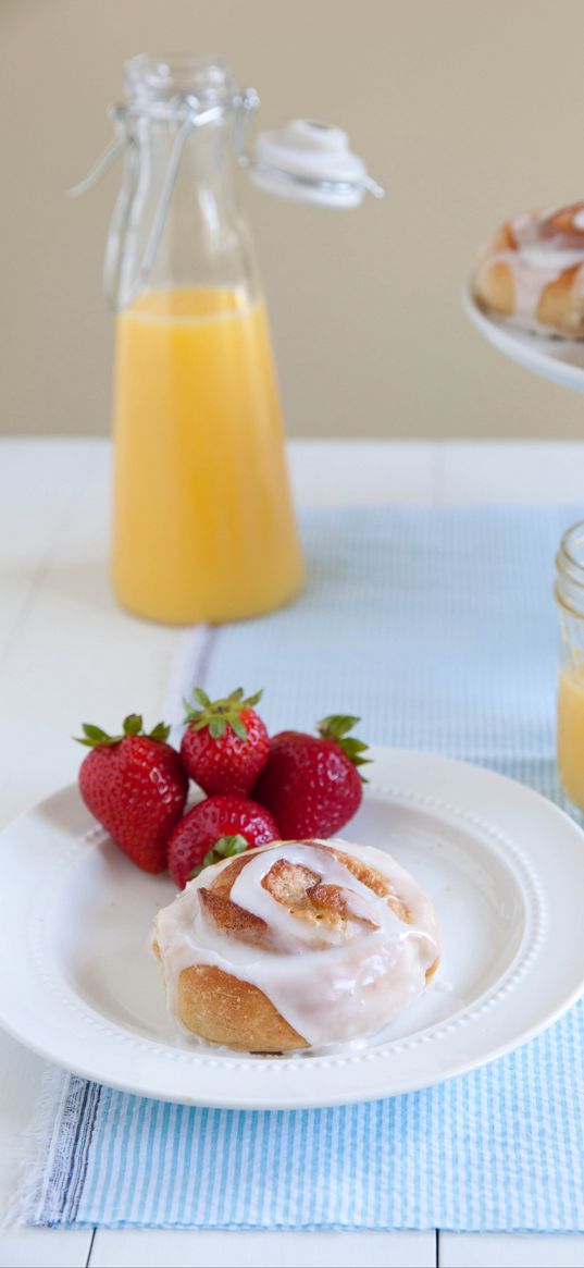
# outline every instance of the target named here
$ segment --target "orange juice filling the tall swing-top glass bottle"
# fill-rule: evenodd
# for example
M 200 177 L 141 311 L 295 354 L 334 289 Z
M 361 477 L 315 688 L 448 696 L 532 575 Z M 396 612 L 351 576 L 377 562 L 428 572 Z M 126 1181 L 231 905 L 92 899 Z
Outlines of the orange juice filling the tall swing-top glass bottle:
M 291 598 L 302 559 L 263 303 L 147 290 L 117 326 L 115 593 L 167 621 Z

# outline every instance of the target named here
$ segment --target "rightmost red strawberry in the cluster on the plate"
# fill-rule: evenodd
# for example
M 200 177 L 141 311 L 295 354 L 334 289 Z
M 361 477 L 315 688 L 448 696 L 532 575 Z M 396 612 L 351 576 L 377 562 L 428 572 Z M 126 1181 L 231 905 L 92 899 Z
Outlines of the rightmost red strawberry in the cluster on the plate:
M 284 839 L 332 837 L 359 810 L 366 744 L 347 732 L 359 718 L 324 718 L 319 738 L 282 730 L 270 743 L 270 757 L 253 796 L 275 815 Z

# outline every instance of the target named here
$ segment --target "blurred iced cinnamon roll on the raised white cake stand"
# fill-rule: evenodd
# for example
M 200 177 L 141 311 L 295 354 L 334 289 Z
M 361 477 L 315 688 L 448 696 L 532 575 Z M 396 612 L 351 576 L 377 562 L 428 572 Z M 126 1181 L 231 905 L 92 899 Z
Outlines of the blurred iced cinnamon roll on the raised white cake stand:
M 584 339 L 584 203 L 505 221 L 479 257 L 474 294 L 526 330 Z

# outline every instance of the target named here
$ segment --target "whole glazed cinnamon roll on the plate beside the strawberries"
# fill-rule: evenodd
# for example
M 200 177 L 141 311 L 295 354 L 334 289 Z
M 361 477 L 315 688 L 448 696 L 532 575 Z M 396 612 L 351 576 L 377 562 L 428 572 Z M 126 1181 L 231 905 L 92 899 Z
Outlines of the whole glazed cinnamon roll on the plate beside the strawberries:
M 155 922 L 168 1007 L 200 1038 L 252 1052 L 375 1033 L 424 989 L 436 913 L 390 855 L 272 842 L 190 881 Z

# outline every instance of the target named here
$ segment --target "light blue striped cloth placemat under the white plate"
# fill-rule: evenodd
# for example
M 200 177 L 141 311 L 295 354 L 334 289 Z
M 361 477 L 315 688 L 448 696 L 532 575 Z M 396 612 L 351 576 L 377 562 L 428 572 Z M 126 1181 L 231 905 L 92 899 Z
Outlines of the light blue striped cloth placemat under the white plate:
M 561 801 L 554 554 L 583 507 L 355 508 L 303 519 L 309 583 L 196 631 L 172 680 L 265 687 L 272 729 L 332 711 L 371 742 L 488 763 Z M 265 706 L 265 708 L 263 708 Z M 584 1008 L 426 1092 L 225 1112 L 53 1075 L 33 1131 L 38 1225 L 584 1230 Z

